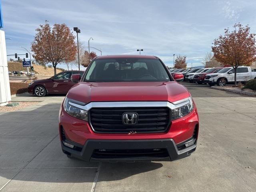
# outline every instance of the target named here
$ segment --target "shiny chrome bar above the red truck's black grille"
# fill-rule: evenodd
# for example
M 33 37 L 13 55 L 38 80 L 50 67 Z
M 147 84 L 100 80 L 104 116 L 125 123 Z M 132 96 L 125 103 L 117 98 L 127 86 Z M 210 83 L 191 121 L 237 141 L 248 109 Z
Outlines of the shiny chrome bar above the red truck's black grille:
M 192 102 L 192 98 L 188 97 L 182 100 L 178 100 L 176 102 L 168 102 L 168 101 L 116 101 L 116 102 L 90 102 L 86 105 L 80 105 L 78 102 L 74 102 L 74 100 L 68 100 L 68 103 L 74 107 L 90 110 L 91 108 L 108 108 L 108 107 L 168 107 L 171 110 L 180 108 L 186 104 Z

